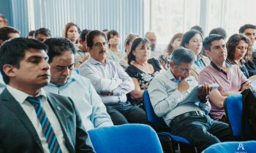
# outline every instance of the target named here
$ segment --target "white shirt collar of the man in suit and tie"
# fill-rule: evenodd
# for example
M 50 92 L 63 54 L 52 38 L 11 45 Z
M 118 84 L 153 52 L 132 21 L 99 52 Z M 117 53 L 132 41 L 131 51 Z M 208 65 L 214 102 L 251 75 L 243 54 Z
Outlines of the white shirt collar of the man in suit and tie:
M 15 87 L 11 87 L 10 85 L 7 85 L 7 90 L 12 94 L 12 96 L 15 98 L 16 101 L 18 101 L 20 104 L 24 103 L 26 101 L 26 98 L 33 97 L 32 95 L 29 95 L 27 93 L 24 93 L 23 91 L 20 91 L 16 89 Z M 39 93 L 36 95 L 39 96 L 42 95 L 42 98 L 47 98 L 45 94 L 45 90 L 42 88 L 39 90 Z

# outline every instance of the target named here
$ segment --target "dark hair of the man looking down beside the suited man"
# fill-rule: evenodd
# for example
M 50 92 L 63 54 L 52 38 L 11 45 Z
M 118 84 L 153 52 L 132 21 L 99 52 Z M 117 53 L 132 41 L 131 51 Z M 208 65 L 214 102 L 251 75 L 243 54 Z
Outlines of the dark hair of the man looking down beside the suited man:
M 67 38 L 50 38 L 46 39 L 44 44 L 48 46 L 48 63 L 51 63 L 53 58 L 62 55 L 63 52 L 69 50 L 75 54 L 75 45 Z

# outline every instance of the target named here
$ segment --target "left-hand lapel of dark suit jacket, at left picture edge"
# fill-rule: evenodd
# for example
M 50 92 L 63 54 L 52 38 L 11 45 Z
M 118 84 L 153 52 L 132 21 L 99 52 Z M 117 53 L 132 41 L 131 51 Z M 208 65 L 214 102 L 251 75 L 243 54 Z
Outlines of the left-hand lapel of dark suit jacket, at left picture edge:
M 34 137 L 39 149 L 42 150 L 42 144 L 39 140 L 39 136 L 37 135 L 37 131 L 34 129 L 34 125 L 31 123 L 29 117 L 26 115 L 25 111 L 20 106 L 20 103 L 15 100 L 15 98 L 10 94 L 7 88 L 4 89 L 3 93 L 1 93 L 1 101 L 7 106 L 16 116 L 23 122 L 23 125 L 28 128 L 31 135 Z

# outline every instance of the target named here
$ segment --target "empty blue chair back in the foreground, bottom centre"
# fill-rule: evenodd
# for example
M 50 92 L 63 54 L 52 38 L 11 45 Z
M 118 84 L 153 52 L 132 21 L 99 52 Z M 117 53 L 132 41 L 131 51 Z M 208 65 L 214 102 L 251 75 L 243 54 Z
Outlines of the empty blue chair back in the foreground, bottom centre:
M 148 125 L 126 124 L 88 131 L 97 153 L 162 153 L 157 133 Z

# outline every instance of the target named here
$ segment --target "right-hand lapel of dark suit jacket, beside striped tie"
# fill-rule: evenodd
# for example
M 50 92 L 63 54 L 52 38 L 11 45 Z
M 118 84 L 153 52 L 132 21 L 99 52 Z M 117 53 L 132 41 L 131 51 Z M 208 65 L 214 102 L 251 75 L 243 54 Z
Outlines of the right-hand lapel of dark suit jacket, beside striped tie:
M 53 97 L 50 93 L 46 93 L 48 102 L 50 103 L 51 108 L 53 109 L 54 114 L 59 120 L 59 124 L 61 125 L 62 133 L 64 134 L 65 144 L 69 149 L 69 152 L 75 152 L 75 146 L 72 145 L 72 140 L 70 140 L 70 136 L 68 135 L 68 126 L 65 119 L 67 114 L 64 114 L 64 108 L 59 104 L 61 101 Z M 75 129 L 72 129 L 75 130 Z

